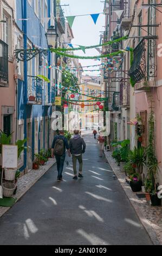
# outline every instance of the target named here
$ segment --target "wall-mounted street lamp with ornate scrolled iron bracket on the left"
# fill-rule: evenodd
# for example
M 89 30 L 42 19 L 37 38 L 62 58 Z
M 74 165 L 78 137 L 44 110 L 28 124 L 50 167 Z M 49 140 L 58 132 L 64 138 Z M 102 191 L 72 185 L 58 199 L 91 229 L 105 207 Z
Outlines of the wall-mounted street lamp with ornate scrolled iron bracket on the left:
M 56 47 L 57 45 L 57 38 L 59 35 L 56 32 L 56 29 L 54 26 L 50 26 L 47 29 L 47 33 L 45 34 L 47 38 L 47 44 L 48 47 Z M 38 54 L 43 54 L 44 56 L 48 56 L 48 53 L 50 52 L 50 49 L 16 49 L 16 59 L 18 62 L 28 62 L 30 59 L 33 59 Z

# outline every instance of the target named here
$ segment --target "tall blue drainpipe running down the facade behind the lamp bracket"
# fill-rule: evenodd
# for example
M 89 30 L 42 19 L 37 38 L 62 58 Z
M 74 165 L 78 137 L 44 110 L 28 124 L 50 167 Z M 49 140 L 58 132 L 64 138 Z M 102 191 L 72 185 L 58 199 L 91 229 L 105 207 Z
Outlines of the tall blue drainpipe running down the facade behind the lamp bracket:
M 23 19 L 27 19 L 27 0 L 23 0 Z M 24 49 L 27 49 L 27 20 L 23 20 Z M 26 56 L 25 56 L 26 58 Z M 27 60 L 24 61 L 24 138 L 27 138 Z M 25 143 L 27 147 L 27 142 Z M 24 168 L 27 167 L 27 151 L 24 151 Z

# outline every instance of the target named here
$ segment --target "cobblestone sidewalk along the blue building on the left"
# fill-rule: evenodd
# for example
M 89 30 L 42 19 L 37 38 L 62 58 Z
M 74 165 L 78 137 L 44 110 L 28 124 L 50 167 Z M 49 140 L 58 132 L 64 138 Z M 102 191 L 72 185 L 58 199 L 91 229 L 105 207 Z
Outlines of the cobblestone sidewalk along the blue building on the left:
M 55 159 L 49 160 L 44 166 L 40 166 L 38 170 L 30 170 L 27 174 L 23 175 L 17 181 L 17 192 L 15 197 L 20 199 L 43 175 L 46 173 L 53 164 L 56 163 Z M 16 201 L 17 201 L 16 200 Z M 7 212 L 10 207 L 0 206 L 0 217 Z

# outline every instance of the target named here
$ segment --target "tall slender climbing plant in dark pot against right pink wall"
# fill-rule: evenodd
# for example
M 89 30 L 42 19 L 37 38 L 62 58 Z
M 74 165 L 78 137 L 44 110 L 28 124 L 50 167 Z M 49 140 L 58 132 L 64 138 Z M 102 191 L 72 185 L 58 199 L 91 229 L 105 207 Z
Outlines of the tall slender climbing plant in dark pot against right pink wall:
M 158 184 L 156 182 L 156 175 L 158 173 L 158 160 L 155 156 L 155 145 L 154 145 L 154 117 L 151 108 L 150 117 L 148 119 L 148 146 L 146 149 L 147 153 L 147 179 L 150 180 L 152 187 L 150 187 L 151 204 L 153 206 L 161 205 L 161 199 L 158 198 Z

